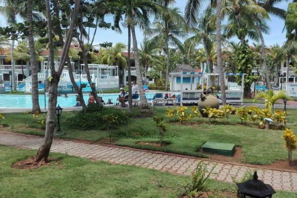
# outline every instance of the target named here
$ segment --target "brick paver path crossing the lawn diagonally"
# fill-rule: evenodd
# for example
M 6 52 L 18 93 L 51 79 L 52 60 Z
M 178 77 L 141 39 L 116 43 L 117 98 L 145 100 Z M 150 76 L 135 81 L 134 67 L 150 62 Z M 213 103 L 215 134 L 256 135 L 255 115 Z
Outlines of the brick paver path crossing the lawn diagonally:
M 0 131 L 0 144 L 22 148 L 38 149 L 43 137 L 22 135 Z M 174 174 L 189 175 L 200 159 L 152 153 L 141 150 L 131 150 L 96 144 L 78 143 L 66 140 L 54 140 L 51 152 L 67 153 L 69 155 L 103 160 L 115 164 L 127 164 L 146 167 Z M 247 170 L 253 168 L 227 163 L 204 161 L 207 169 L 215 166 L 212 179 L 232 182 L 231 176 L 239 179 Z M 258 169 L 258 176 L 264 183 L 270 184 L 277 190 L 297 192 L 297 173 L 268 169 Z

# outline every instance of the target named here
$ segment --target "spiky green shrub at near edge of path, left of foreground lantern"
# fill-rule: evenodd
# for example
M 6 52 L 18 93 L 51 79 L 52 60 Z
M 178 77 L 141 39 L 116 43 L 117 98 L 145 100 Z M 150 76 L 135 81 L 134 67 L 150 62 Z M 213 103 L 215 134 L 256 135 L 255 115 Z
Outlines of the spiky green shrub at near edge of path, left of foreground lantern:
M 185 194 L 190 198 L 195 198 L 199 191 L 206 191 L 205 182 L 209 178 L 214 168 L 215 166 L 213 166 L 208 172 L 206 164 L 203 161 L 199 162 L 191 174 L 191 180 L 186 180 L 186 184 L 183 186 L 185 189 Z

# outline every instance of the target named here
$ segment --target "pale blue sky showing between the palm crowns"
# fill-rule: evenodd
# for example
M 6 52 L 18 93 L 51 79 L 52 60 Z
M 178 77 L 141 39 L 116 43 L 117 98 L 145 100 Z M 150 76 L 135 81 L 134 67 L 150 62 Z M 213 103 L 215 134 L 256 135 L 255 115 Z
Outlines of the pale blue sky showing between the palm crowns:
M 178 7 L 183 14 L 184 10 L 185 10 L 185 6 L 186 6 L 186 0 L 176 0 L 175 6 Z M 284 0 L 281 3 L 278 3 L 277 6 L 279 8 L 283 8 L 283 9 L 287 10 L 288 2 L 286 2 Z M 105 20 L 107 22 L 112 22 L 112 17 L 107 16 L 105 18 Z M 271 46 L 274 44 L 279 44 L 279 45 L 284 44 L 284 42 L 286 41 L 285 33 L 283 33 L 284 24 L 285 24 L 284 20 L 279 19 L 274 16 L 270 16 L 270 21 L 268 21 L 268 25 L 270 27 L 270 34 L 264 35 L 266 46 Z M 0 26 L 6 26 L 5 18 L 2 15 L 0 15 Z M 91 34 L 91 35 L 93 35 L 93 34 Z M 136 36 L 138 39 L 138 43 L 140 45 L 140 43 L 143 41 L 143 33 L 139 29 L 136 29 Z M 233 38 L 232 40 L 238 41 L 236 38 Z M 96 37 L 94 40 L 94 44 L 99 44 L 99 43 L 103 43 L 106 41 L 112 42 L 113 44 L 116 44 L 118 42 L 127 44 L 128 43 L 127 29 L 122 28 L 122 34 L 116 33 L 114 31 L 112 31 L 111 29 L 108 29 L 108 30 L 99 29 L 97 31 L 97 34 L 96 34 Z M 250 41 L 249 43 L 252 44 L 253 41 Z M 140 46 L 138 46 L 138 47 L 140 47 Z

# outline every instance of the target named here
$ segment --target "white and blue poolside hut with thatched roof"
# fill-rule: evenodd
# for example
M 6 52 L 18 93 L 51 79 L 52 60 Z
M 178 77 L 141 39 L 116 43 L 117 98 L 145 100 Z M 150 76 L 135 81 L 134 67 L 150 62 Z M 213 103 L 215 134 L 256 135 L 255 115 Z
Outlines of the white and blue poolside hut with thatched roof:
M 195 72 L 194 68 L 186 64 L 179 64 L 171 73 L 170 90 L 180 92 L 179 103 L 198 103 L 200 94 L 203 93 L 203 73 Z M 197 89 L 197 84 L 201 88 Z

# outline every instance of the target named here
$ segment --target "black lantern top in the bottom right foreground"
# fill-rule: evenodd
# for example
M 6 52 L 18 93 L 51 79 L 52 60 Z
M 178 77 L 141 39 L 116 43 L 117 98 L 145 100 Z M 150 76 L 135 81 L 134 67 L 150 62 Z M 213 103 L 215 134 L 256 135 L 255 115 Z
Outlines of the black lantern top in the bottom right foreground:
M 272 195 L 276 193 L 269 184 L 264 184 L 261 180 L 258 180 L 256 171 L 253 179 L 239 183 L 237 187 L 240 198 L 272 198 Z

